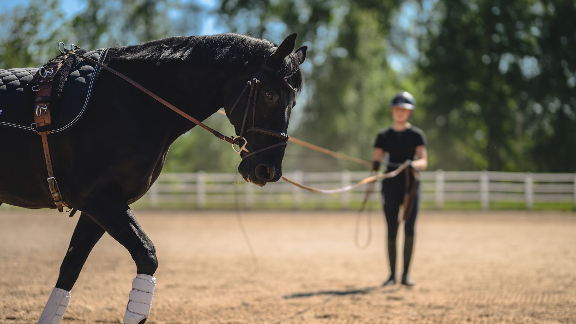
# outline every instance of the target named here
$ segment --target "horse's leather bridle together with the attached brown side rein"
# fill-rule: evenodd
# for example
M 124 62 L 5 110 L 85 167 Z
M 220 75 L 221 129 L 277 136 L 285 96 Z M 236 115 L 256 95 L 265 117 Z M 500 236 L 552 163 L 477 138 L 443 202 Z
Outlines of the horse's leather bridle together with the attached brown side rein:
M 60 44 L 63 45 L 63 48 L 60 49 Z M 177 112 L 179 115 L 183 116 L 184 118 L 190 120 L 191 122 L 195 123 L 196 125 L 202 127 L 203 129 L 210 131 L 210 133 L 212 133 L 215 137 L 218 137 L 219 139 L 221 139 L 222 141 L 226 141 L 229 142 L 230 144 L 232 144 L 232 148 L 234 149 L 234 151 L 236 151 L 236 153 L 239 153 L 240 155 L 242 154 L 242 152 L 247 152 L 248 154 L 241 156 L 242 160 L 246 159 L 249 156 L 255 155 L 256 153 L 260 153 L 263 152 L 264 150 L 267 149 L 271 149 L 271 148 L 275 148 L 276 146 L 286 146 L 287 145 L 287 141 L 289 136 L 286 133 L 282 133 L 279 131 L 275 131 L 275 130 L 271 130 L 271 129 L 266 129 L 263 127 L 256 127 L 255 126 L 255 117 L 256 117 L 256 95 L 257 95 L 257 91 L 258 91 L 258 86 L 260 85 L 260 77 L 262 77 L 262 73 L 264 70 L 267 71 L 271 71 L 274 72 L 276 71 L 275 69 L 272 69 L 272 67 L 267 66 L 266 62 L 268 61 L 268 58 L 270 58 L 270 55 L 274 54 L 274 52 L 276 51 L 276 47 L 272 47 L 270 48 L 270 50 L 268 50 L 268 52 L 266 53 L 266 55 L 264 56 L 264 60 L 262 61 L 262 64 L 260 64 L 259 69 L 256 71 L 256 74 L 254 74 L 254 76 L 252 76 L 252 80 L 249 80 L 246 84 L 246 86 L 244 86 L 244 89 L 242 90 L 242 92 L 240 93 L 240 96 L 238 96 L 238 99 L 236 100 L 236 103 L 234 103 L 234 106 L 232 106 L 232 108 L 230 109 L 230 114 L 232 115 L 232 111 L 234 110 L 234 108 L 236 108 L 236 105 L 238 104 L 238 101 L 240 101 L 242 95 L 244 95 L 244 93 L 246 92 L 246 90 L 248 89 L 248 86 L 250 87 L 250 92 L 248 95 L 248 103 L 246 105 L 246 110 L 244 111 L 244 119 L 242 120 L 242 127 L 240 129 L 240 134 L 237 135 L 234 138 L 230 138 L 222 133 L 220 133 L 217 130 L 214 130 L 212 128 L 210 128 L 209 126 L 205 125 L 203 122 L 200 122 L 200 120 L 186 114 L 184 111 L 181 111 L 179 108 L 177 108 L 176 106 L 174 106 L 173 104 L 170 104 L 168 101 L 162 99 L 161 97 L 159 97 L 158 95 L 154 94 L 153 92 L 149 91 L 148 89 L 146 89 L 145 87 L 143 87 L 142 85 L 140 85 L 138 82 L 132 80 L 131 78 L 125 76 L 124 74 L 120 73 L 119 71 L 116 71 L 114 69 L 112 69 L 111 67 L 108 67 L 107 65 L 104 65 L 103 63 L 100 63 L 98 61 L 95 61 L 94 59 L 89 58 L 88 56 L 84 56 L 81 54 L 77 54 L 75 53 L 73 50 L 68 50 L 66 48 L 66 46 L 64 45 L 64 43 L 60 42 L 58 44 L 58 50 L 60 50 L 60 52 L 62 54 L 72 54 L 75 56 L 79 56 L 83 59 L 85 59 L 87 62 L 90 62 L 94 65 L 100 66 L 102 69 L 109 71 L 112 74 L 116 74 L 116 76 L 119 76 L 120 78 L 123 78 L 124 80 L 128 81 L 130 84 L 134 85 L 136 88 L 140 89 L 141 91 L 145 92 L 147 95 L 149 95 L 150 97 L 153 97 L 154 99 L 160 101 L 161 104 L 164 104 L 164 106 L 170 108 L 171 110 Z M 285 78 L 282 78 L 282 82 L 290 89 L 290 91 L 292 92 L 297 92 L 298 89 L 294 88 L 293 86 L 291 86 L 288 81 L 286 81 Z M 253 98 L 253 101 L 251 101 L 251 99 Z M 250 108 L 250 103 L 252 102 L 252 127 L 249 127 L 248 129 L 244 129 L 244 126 L 246 124 L 246 120 L 248 117 L 248 111 Z M 267 135 L 271 135 L 274 137 L 278 137 L 282 140 L 282 142 L 278 143 L 278 144 L 274 144 L 274 145 L 270 145 L 266 148 L 263 149 L 259 149 L 259 150 L 255 150 L 252 153 L 248 152 L 247 149 L 247 145 L 248 145 L 248 141 L 246 141 L 246 139 L 244 138 L 244 133 L 248 133 L 249 131 L 255 131 L 257 133 L 262 133 L 262 134 L 267 134 Z M 243 140 L 244 143 L 241 144 L 240 146 L 240 140 Z M 240 149 L 237 150 L 236 148 L 234 148 L 234 144 L 240 146 Z

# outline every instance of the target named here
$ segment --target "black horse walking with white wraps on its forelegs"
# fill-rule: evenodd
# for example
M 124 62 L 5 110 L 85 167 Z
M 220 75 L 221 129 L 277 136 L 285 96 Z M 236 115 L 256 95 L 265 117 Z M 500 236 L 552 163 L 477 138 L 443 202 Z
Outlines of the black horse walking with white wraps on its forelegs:
M 224 107 L 237 134 L 243 133 L 244 123 L 285 133 L 306 56 L 306 47 L 294 51 L 295 39 L 294 33 L 274 50 L 275 44 L 267 40 L 233 33 L 169 37 L 110 48 L 105 65 L 198 120 Z M 264 58 L 268 69 L 259 78 L 255 102 L 249 104 L 248 95 L 241 93 Z M 158 178 L 170 144 L 195 126 L 107 71 L 100 73 L 93 91 L 82 120 L 66 134 L 48 136 L 63 200 L 81 215 L 39 323 L 59 323 L 69 291 L 104 232 L 126 247 L 137 265 L 124 322 L 146 322 L 155 285 L 152 276 L 158 267 L 156 248 L 128 205 Z M 247 132 L 244 137 L 253 152 L 281 141 L 265 131 Z M 0 204 L 55 208 L 40 137 L 0 128 L 0 138 Z M 282 175 L 284 150 L 285 145 L 277 145 L 257 152 L 242 160 L 238 172 L 260 186 L 275 182 Z M 202 152 L 198 155 L 210 159 Z

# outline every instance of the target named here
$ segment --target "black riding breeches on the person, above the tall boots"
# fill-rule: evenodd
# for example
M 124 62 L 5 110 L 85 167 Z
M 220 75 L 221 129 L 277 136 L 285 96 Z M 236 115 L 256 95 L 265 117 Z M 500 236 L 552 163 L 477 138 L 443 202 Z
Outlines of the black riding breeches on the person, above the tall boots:
M 418 209 L 420 207 L 420 194 L 421 191 L 417 190 L 410 214 L 406 216 L 408 218 L 404 224 L 404 233 L 406 236 L 414 236 L 416 216 L 418 216 Z M 400 206 L 404 204 L 404 191 L 384 191 L 382 198 L 384 199 L 384 215 L 386 216 L 386 224 L 388 225 L 388 240 L 396 240 L 398 227 L 402 219 L 401 216 L 400 219 L 398 218 L 398 213 Z

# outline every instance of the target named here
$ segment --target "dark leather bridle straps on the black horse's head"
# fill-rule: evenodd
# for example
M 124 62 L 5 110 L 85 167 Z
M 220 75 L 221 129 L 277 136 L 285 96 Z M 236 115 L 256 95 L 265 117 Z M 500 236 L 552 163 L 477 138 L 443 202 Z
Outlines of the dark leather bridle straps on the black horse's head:
M 263 152 L 263 151 L 271 149 L 271 148 L 275 148 L 277 146 L 288 145 L 287 142 L 288 142 L 288 139 L 290 138 L 288 136 L 288 134 L 280 132 L 280 131 L 266 129 L 263 127 L 256 127 L 256 125 L 255 125 L 255 123 L 256 123 L 256 99 L 257 99 L 257 94 L 258 94 L 258 87 L 262 83 L 262 82 L 260 82 L 260 78 L 262 77 L 262 73 L 264 72 L 264 70 L 271 71 L 271 72 L 276 71 L 272 67 L 266 65 L 268 58 L 270 58 L 270 56 L 272 54 L 274 54 L 275 51 L 276 51 L 276 47 L 272 47 L 272 48 L 270 48 L 270 50 L 268 50 L 268 52 L 264 56 L 262 64 L 260 64 L 260 67 L 258 68 L 256 73 L 252 76 L 251 80 L 248 80 L 247 84 L 244 86 L 244 89 L 242 89 L 242 92 L 238 96 L 238 99 L 236 99 L 236 102 L 234 103 L 232 108 L 230 108 L 229 116 L 232 116 L 232 112 L 234 111 L 234 108 L 236 108 L 238 102 L 240 101 L 242 96 L 244 96 L 244 93 L 247 92 L 248 87 L 250 87 L 250 92 L 248 93 L 248 102 L 246 103 L 246 108 L 244 110 L 244 118 L 242 119 L 242 126 L 240 127 L 240 134 L 238 134 L 236 137 L 233 138 L 233 140 L 235 142 L 238 142 L 238 145 L 240 145 L 239 144 L 240 140 L 244 141 L 244 143 L 240 146 L 240 149 L 238 149 L 238 150 L 236 148 L 234 148 L 234 144 L 232 144 L 232 148 L 234 149 L 234 151 L 236 151 L 236 153 L 240 154 L 240 156 L 242 157 L 242 160 L 246 159 L 249 156 L 253 156 L 257 153 Z M 288 83 L 288 81 L 286 81 L 286 78 L 282 78 L 282 82 L 287 86 L 287 88 L 290 89 L 290 91 L 292 91 L 294 93 L 298 91 L 297 88 L 294 88 L 293 86 L 291 86 Z M 252 126 L 248 127 L 248 129 L 245 129 L 244 127 L 246 126 L 246 121 L 248 119 L 248 112 L 250 110 L 251 104 L 252 104 Z M 244 134 L 248 133 L 250 131 L 278 137 L 282 140 L 282 142 L 267 146 L 266 148 L 263 148 L 263 149 L 255 150 L 254 152 L 250 153 L 248 151 L 248 148 L 247 148 L 248 141 L 244 138 Z M 242 152 L 246 152 L 247 154 L 242 156 Z

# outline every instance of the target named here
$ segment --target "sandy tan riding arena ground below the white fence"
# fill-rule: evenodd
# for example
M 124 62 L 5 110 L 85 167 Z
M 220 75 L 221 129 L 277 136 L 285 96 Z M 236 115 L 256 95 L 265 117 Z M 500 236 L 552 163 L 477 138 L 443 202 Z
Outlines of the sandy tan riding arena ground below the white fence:
M 575 213 L 423 212 L 414 288 L 379 287 L 380 214 L 358 250 L 354 212 L 242 212 L 254 274 L 233 212 L 135 214 L 160 263 L 149 323 L 576 323 Z M 0 323 L 36 323 L 77 217 L 0 209 Z M 122 323 L 134 276 L 105 235 L 63 323 Z

